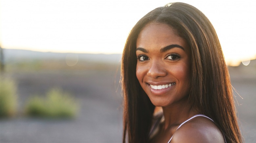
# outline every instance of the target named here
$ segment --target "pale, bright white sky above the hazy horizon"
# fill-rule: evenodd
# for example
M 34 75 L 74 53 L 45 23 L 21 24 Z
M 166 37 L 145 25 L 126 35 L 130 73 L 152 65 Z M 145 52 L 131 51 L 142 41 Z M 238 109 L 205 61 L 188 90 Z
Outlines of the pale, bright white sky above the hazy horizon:
M 61 53 L 122 53 L 131 28 L 171 0 L 1 0 L 2 48 Z M 226 61 L 256 58 L 254 0 L 180 0 L 212 22 Z

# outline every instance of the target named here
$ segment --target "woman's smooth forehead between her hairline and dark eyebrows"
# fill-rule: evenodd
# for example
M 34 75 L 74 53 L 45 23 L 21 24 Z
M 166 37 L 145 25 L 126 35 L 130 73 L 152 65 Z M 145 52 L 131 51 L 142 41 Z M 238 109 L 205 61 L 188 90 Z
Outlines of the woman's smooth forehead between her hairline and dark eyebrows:
M 167 24 L 149 23 L 140 31 L 136 46 L 163 48 L 171 44 L 185 46 L 186 41 L 178 35 L 177 30 Z

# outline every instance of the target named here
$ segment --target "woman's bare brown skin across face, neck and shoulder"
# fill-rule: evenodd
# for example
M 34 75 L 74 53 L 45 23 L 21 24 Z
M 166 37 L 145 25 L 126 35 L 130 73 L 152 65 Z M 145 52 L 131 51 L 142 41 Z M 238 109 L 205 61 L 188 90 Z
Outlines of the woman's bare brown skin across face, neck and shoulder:
M 167 24 L 149 23 L 137 39 L 136 75 L 155 106 L 161 106 L 165 121 L 151 142 L 224 142 L 214 122 L 196 117 L 200 114 L 188 103 L 190 91 L 190 48 L 177 31 Z M 167 86 L 166 86 L 167 85 Z

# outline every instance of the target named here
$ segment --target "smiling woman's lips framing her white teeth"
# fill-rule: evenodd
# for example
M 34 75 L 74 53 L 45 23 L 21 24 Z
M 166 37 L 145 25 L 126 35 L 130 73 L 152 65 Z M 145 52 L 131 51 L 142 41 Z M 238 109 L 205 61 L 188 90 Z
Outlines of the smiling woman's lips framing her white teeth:
M 159 86 L 159 85 L 169 85 L 172 84 L 172 86 L 167 87 L 167 88 L 162 88 L 162 89 L 153 89 L 150 85 L 155 85 L 155 86 Z M 165 94 L 166 92 L 168 92 L 169 90 L 171 90 L 174 86 L 176 85 L 175 82 L 159 82 L 159 83 L 155 83 L 155 82 L 148 82 L 147 86 L 150 89 L 151 93 L 154 95 L 162 95 Z

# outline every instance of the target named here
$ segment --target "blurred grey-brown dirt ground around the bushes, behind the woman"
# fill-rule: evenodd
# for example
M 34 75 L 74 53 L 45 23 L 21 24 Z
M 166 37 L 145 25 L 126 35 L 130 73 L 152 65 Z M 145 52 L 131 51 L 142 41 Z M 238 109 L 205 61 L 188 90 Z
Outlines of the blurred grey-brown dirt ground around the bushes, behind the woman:
M 19 115 L 0 120 L 0 142 L 121 142 L 122 96 L 117 69 L 5 73 L 17 81 Z M 241 131 L 245 142 L 256 142 L 256 76 L 241 76 L 236 71 L 231 69 L 230 76 L 233 87 L 243 98 L 236 94 Z M 76 119 L 35 119 L 22 115 L 30 96 L 44 94 L 52 87 L 62 87 L 75 96 L 80 105 Z

